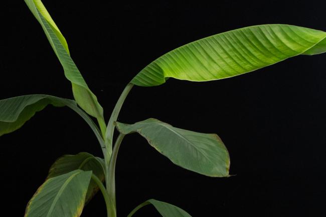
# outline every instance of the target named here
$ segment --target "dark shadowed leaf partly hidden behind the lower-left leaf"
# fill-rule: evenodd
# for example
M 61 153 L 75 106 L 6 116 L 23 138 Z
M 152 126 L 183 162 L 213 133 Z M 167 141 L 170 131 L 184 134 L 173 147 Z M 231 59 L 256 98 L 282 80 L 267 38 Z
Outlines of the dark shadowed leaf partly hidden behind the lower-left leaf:
M 94 157 L 87 152 L 81 152 L 76 155 L 64 155 L 57 159 L 51 166 L 47 179 L 81 169 L 84 171 L 93 171 L 93 174 L 103 182 L 105 180 L 104 168 L 104 159 Z M 86 203 L 93 198 L 98 190 L 99 187 L 96 182 L 91 180 L 86 194 Z

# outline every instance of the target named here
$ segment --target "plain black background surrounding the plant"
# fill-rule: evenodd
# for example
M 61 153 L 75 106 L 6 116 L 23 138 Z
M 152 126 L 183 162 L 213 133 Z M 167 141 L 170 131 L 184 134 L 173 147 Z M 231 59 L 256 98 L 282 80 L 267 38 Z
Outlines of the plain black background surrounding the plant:
M 70 53 L 108 119 L 124 86 L 152 60 L 181 45 L 259 24 L 326 30 L 324 1 L 208 3 L 46 1 Z M 72 98 L 70 83 L 23 1 L 2 8 L 1 99 L 25 94 Z M 126 216 L 149 198 L 196 216 L 326 216 L 325 55 L 298 56 L 212 82 L 170 79 L 134 87 L 119 121 L 154 117 L 217 133 L 231 156 L 229 178 L 172 164 L 139 135 L 125 137 L 116 168 L 117 208 Z M 68 108 L 47 107 L 0 138 L 2 210 L 25 206 L 63 154 L 102 156 L 88 125 Z M 106 216 L 101 194 L 82 216 Z M 150 206 L 134 216 L 158 216 Z

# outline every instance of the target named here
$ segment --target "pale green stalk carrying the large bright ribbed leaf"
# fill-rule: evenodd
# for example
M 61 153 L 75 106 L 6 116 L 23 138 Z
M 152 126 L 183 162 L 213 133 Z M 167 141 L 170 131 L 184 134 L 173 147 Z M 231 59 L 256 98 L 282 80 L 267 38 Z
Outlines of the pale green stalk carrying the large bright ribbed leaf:
M 124 100 L 126 99 L 128 93 L 130 92 L 131 88 L 133 87 L 133 84 L 129 83 L 124 88 L 120 98 L 118 99 L 117 103 L 115 104 L 115 107 L 113 109 L 113 112 L 111 114 L 110 120 L 107 124 L 105 136 L 104 136 L 104 143 L 107 149 L 108 156 L 111 156 L 112 153 L 112 142 L 113 142 L 113 132 L 114 132 L 114 121 L 117 120 L 119 112 L 121 110 L 122 104 Z

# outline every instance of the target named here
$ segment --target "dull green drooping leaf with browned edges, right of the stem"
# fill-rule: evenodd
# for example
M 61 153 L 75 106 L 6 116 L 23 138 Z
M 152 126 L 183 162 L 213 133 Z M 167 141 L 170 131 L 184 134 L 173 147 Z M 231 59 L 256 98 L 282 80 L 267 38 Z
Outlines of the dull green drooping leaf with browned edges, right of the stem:
M 197 133 L 150 118 L 134 124 L 115 122 L 122 134 L 139 133 L 173 163 L 200 174 L 229 176 L 230 156 L 216 134 Z

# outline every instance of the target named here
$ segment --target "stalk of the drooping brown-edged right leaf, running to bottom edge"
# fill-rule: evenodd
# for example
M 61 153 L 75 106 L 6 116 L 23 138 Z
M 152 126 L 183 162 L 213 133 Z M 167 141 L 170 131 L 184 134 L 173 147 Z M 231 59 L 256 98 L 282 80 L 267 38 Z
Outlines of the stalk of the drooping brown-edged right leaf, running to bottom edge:
M 110 162 L 106 175 L 106 191 L 110 199 L 110 217 L 116 217 L 116 201 L 115 201 L 115 163 L 118 155 L 119 147 L 125 135 L 120 133 L 115 141 Z

